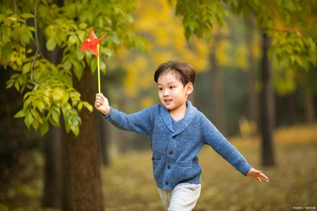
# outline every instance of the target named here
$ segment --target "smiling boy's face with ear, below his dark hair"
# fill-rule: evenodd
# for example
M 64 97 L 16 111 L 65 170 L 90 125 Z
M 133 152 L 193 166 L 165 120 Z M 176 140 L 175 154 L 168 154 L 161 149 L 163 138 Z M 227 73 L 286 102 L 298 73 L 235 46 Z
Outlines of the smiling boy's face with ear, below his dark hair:
M 193 84 L 188 83 L 185 87 L 169 72 L 158 79 L 159 100 L 160 103 L 168 110 L 176 110 L 186 105 L 187 97 L 193 91 Z

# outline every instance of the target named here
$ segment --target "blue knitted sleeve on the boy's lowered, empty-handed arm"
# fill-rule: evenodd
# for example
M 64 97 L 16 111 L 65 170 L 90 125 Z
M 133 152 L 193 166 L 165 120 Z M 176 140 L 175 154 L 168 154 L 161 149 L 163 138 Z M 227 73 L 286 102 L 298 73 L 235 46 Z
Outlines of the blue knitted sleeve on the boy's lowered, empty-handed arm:
M 230 163 L 235 169 L 240 171 L 243 175 L 249 172 L 252 166 L 241 155 L 229 141 L 214 127 L 214 125 L 201 113 L 201 134 L 205 144 L 208 144 L 216 151 L 222 158 Z

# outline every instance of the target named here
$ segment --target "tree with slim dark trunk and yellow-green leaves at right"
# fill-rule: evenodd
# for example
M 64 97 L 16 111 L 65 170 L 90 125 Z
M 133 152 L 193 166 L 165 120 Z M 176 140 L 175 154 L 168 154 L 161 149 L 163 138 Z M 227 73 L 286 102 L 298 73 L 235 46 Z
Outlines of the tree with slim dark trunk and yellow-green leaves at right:
M 263 34 L 261 70 L 261 134 L 264 166 L 274 166 L 273 128 L 275 106 L 269 57 L 275 54 L 285 71 L 316 69 L 316 1 L 301 0 L 177 0 L 176 15 L 183 16 L 187 40 L 192 34 L 211 39 L 215 26 L 226 24 L 229 9 L 252 16 Z M 271 44 L 272 39 L 272 44 Z

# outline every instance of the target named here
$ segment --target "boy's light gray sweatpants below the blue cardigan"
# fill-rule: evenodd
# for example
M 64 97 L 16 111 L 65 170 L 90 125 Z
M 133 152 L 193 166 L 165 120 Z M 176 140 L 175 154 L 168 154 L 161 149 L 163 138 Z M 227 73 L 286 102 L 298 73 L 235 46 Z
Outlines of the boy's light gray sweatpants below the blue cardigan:
M 191 211 L 197 203 L 201 187 L 201 184 L 179 183 L 172 190 L 158 187 L 158 191 L 166 211 Z

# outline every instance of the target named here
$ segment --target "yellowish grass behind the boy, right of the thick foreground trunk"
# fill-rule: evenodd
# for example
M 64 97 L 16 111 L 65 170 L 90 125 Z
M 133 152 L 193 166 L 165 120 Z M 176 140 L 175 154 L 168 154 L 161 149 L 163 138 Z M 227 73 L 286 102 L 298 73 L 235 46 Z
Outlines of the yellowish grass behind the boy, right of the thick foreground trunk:
M 274 135 L 273 168 L 261 166 L 259 138 L 230 138 L 248 162 L 270 181 L 243 176 L 206 146 L 199 154 L 202 192 L 195 211 L 285 211 L 317 207 L 317 125 L 280 128 Z M 152 153 L 130 152 L 105 167 L 106 211 L 162 211 L 152 176 Z

